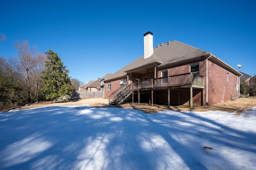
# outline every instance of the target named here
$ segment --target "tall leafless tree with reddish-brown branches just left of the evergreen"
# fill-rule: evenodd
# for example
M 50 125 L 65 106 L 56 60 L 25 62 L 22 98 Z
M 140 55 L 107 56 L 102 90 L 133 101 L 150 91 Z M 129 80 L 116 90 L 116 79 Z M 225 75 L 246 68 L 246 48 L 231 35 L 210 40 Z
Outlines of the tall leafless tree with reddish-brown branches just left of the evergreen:
M 35 49 L 31 50 L 28 41 L 16 41 L 14 46 L 20 61 L 17 67 L 18 80 L 26 92 L 24 99 L 31 103 L 38 98 L 40 76 L 44 70 L 46 55 L 37 54 Z

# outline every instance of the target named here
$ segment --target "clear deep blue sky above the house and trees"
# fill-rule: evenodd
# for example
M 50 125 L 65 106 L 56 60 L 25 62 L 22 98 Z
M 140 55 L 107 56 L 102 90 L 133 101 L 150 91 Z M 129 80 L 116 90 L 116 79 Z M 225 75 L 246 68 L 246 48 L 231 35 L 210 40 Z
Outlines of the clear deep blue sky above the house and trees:
M 87 82 L 114 73 L 144 53 L 143 34 L 154 47 L 177 40 L 256 74 L 256 2 L 253 0 L 0 0 L 2 57 L 15 57 L 13 42 L 51 49 Z

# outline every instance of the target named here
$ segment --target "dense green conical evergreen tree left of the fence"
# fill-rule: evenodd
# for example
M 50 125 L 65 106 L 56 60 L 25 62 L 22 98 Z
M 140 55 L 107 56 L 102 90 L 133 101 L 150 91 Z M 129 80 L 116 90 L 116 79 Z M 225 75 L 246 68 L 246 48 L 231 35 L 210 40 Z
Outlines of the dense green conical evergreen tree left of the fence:
M 46 61 L 46 70 L 42 72 L 41 80 L 45 83 L 41 89 L 46 99 L 55 100 L 59 97 L 68 97 L 73 92 L 71 80 L 68 76 L 69 70 L 52 50 L 45 52 L 48 61 Z

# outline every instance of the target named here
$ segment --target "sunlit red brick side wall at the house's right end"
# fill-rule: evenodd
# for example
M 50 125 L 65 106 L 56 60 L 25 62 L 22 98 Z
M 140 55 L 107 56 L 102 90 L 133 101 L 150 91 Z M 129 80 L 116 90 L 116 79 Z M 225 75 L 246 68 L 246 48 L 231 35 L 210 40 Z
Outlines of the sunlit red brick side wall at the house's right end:
M 227 73 L 229 74 L 229 81 L 227 81 Z M 208 104 L 220 103 L 222 100 L 225 102 L 231 97 L 236 97 L 236 81 L 237 76 L 235 74 L 208 60 Z

